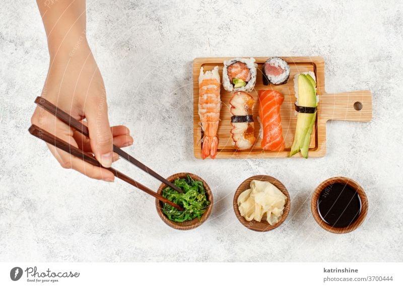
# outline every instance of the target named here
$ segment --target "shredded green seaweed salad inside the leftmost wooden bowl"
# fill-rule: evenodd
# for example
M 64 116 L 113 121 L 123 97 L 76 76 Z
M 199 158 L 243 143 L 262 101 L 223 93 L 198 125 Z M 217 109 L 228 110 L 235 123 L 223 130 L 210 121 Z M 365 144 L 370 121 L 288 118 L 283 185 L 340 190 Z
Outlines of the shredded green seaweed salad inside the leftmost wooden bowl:
M 189 175 L 186 175 L 186 178 L 176 178 L 173 183 L 182 189 L 183 193 L 178 193 L 172 187 L 167 186 L 162 190 L 162 196 L 183 207 L 184 211 L 179 211 L 173 206 L 164 203 L 162 212 L 169 220 L 176 222 L 184 222 L 196 217 L 200 218 L 210 205 L 203 182 L 194 180 Z

